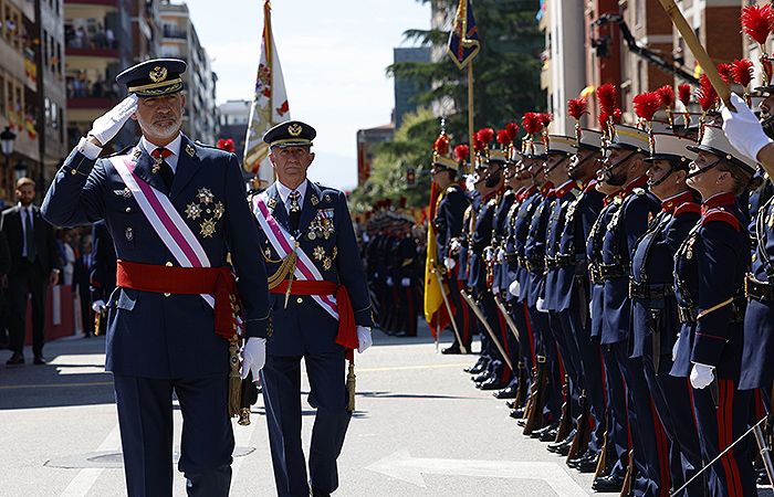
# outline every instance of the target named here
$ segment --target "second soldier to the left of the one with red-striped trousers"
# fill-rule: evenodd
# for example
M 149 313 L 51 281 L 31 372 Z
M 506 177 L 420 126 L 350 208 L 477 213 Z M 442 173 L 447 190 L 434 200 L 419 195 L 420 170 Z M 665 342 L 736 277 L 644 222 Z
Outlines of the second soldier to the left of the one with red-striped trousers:
M 656 443 L 657 427 L 653 420 L 651 399 L 642 372 L 641 358 L 629 358 L 629 332 L 631 300 L 629 298 L 630 256 L 637 240 L 645 233 L 648 219 L 659 210 L 659 202 L 647 192 L 648 178 L 645 175 L 647 163 L 642 161 L 648 155 L 648 134 L 629 126 L 616 126 L 613 141 L 608 145 L 610 154 L 605 161 L 605 182 L 623 188 L 617 197 L 620 207 L 610 218 L 603 236 L 602 263 L 599 276 L 604 281 L 604 319 L 602 340 L 604 353 L 615 358 L 607 363 L 617 368 L 626 382 L 626 389 L 611 391 L 614 395 L 627 395 L 628 422 L 631 427 L 631 442 L 635 459 L 634 478 L 637 495 L 658 495 L 661 486 L 661 465 Z M 610 368 L 610 369 L 613 369 Z M 616 374 L 615 369 L 608 373 Z M 620 401 L 615 402 L 620 404 Z M 637 430 L 634 427 L 637 426 Z M 667 478 L 668 478 L 667 474 Z M 615 489 L 623 484 L 610 477 L 597 483 L 596 490 Z

